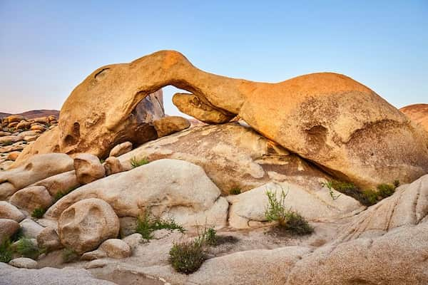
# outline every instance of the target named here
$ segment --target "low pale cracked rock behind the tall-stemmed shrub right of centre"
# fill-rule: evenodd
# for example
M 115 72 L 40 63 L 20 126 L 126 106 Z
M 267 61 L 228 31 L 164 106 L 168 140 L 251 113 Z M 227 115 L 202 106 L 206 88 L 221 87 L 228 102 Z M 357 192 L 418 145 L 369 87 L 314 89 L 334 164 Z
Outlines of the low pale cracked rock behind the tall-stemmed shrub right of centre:
M 249 227 L 248 222 L 267 221 L 265 212 L 268 200 L 266 192 L 275 193 L 278 201 L 282 191 L 285 193 L 285 208 L 299 212 L 305 219 L 313 222 L 329 222 L 342 217 L 351 217 L 361 212 L 362 207 L 357 200 L 339 192 L 333 192 L 337 199 L 332 199 L 325 187 L 315 190 L 305 190 L 302 187 L 287 182 L 268 183 L 240 195 L 228 196 L 231 204 L 229 210 L 229 224 L 235 228 Z

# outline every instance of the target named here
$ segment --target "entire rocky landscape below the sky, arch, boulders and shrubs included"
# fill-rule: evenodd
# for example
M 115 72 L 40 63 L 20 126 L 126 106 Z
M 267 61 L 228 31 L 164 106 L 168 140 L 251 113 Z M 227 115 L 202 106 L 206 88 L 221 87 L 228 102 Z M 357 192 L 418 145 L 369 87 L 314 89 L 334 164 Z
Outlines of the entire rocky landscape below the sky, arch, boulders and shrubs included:
M 205 124 L 165 116 L 168 83 Z M 334 73 L 253 83 L 171 51 L 100 68 L 58 126 L 3 122 L 1 151 L 26 147 L 0 172 L 0 284 L 428 284 L 411 110 Z

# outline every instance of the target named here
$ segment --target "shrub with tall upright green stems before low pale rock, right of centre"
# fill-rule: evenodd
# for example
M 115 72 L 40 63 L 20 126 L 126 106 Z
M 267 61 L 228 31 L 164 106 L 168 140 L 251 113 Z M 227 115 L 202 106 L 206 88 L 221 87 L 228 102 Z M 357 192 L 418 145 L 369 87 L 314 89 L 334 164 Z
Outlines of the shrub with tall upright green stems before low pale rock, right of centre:
M 279 229 L 290 232 L 291 234 L 304 235 L 314 232 L 312 226 L 298 212 L 285 209 L 285 194 L 281 190 L 280 199 L 277 199 L 276 192 L 267 191 L 267 209 L 265 217 L 269 222 L 277 222 Z

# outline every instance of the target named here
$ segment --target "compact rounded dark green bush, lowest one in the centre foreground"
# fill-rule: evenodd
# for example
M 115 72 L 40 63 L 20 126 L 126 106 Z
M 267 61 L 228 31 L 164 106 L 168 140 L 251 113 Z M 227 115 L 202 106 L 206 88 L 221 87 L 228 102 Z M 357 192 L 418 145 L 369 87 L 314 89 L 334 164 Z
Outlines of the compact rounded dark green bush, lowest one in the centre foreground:
M 175 271 L 191 274 L 197 271 L 205 261 L 203 244 L 198 242 L 183 242 L 174 244 L 170 249 L 170 264 Z

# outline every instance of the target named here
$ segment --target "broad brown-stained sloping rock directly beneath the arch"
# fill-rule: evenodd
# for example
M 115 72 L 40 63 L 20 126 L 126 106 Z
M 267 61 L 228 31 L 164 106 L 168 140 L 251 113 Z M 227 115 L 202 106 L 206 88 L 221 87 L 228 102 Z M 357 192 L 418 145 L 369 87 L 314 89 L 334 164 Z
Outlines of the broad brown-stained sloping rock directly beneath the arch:
M 271 180 L 315 188 L 320 186 L 323 178 L 329 177 L 297 155 L 238 123 L 183 130 L 146 142 L 118 158 L 124 167 L 130 169 L 130 161 L 135 157 L 148 157 L 150 161 L 173 158 L 200 165 L 224 195 L 234 188 L 244 192 Z

